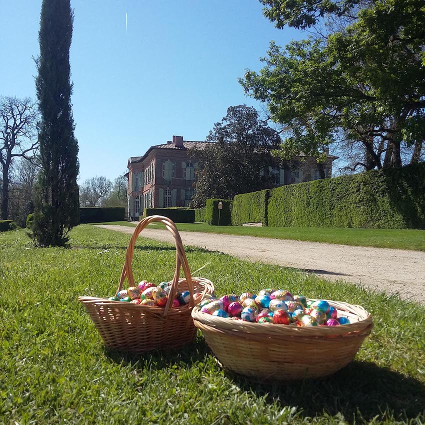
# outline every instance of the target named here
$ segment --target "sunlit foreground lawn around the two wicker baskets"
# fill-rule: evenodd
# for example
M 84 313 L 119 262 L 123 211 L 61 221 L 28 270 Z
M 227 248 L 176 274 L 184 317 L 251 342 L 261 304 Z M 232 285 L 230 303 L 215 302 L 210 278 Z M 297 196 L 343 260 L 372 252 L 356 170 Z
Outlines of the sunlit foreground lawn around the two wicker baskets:
M 35 248 L 24 230 L 0 234 L 0 423 L 425 421 L 423 306 L 218 252 L 187 256 L 193 270 L 206 264 L 201 274 L 219 295 L 280 286 L 361 304 L 374 316 L 372 335 L 333 376 L 289 383 L 224 372 L 200 335 L 168 353 L 106 350 L 77 296 L 113 294 L 128 239 L 80 225 L 71 249 Z M 135 277 L 170 279 L 174 260 L 170 245 L 139 238 Z

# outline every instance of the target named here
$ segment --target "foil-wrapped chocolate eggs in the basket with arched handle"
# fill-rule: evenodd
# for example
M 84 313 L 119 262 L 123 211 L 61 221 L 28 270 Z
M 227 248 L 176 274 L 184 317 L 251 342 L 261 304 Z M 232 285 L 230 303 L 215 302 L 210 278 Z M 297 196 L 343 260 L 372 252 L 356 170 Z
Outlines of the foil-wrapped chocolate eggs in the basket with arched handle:
M 142 280 L 137 286 L 130 286 L 128 289 L 120 290 L 116 296 L 108 298 L 109 301 L 131 302 L 132 304 L 156 305 L 164 307 L 168 294 L 171 290 L 171 284 L 161 282 L 155 285 L 147 280 Z M 190 301 L 190 293 L 188 290 L 177 292 L 172 300 L 172 307 L 180 307 L 188 304 Z

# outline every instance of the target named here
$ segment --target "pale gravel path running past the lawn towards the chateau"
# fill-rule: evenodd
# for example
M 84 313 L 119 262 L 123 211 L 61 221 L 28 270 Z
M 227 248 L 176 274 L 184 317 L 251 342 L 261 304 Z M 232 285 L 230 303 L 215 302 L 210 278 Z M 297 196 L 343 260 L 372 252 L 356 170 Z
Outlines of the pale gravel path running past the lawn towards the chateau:
M 99 227 L 129 234 L 134 230 L 120 225 Z M 165 229 L 146 228 L 142 235 L 171 242 Z M 192 231 L 181 231 L 180 235 L 184 245 L 295 267 L 326 279 L 344 279 L 387 293 L 399 292 L 402 298 L 425 303 L 425 252 Z

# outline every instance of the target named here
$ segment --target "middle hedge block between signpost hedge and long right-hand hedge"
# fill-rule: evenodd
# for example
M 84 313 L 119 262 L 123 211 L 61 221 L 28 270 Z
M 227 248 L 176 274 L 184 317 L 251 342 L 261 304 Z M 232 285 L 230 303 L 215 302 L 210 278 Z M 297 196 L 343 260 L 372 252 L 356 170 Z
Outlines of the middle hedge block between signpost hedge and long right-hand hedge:
M 242 193 L 233 199 L 231 223 L 240 226 L 242 223 L 259 223 L 267 225 L 267 204 L 270 190 Z

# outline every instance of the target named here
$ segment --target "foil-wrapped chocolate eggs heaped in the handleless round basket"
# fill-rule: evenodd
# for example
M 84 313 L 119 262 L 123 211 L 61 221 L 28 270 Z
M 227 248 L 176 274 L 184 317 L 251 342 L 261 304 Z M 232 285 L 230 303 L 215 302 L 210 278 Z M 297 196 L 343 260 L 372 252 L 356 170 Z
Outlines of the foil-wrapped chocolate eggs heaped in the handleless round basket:
M 257 323 L 296 324 L 297 326 L 338 326 L 349 323 L 338 317 L 335 307 L 327 301 L 307 301 L 305 296 L 287 290 L 261 289 L 258 294 L 244 292 L 216 298 L 205 295 L 199 304 L 203 313 L 233 320 Z

